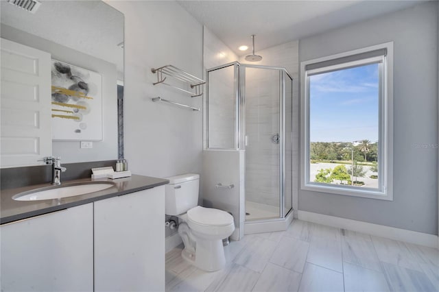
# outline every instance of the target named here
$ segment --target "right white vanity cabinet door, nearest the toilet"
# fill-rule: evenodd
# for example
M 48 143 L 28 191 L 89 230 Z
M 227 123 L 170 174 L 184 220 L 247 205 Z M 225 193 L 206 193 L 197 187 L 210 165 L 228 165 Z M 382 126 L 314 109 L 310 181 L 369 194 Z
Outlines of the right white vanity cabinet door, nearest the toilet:
M 95 204 L 95 291 L 165 291 L 165 186 Z

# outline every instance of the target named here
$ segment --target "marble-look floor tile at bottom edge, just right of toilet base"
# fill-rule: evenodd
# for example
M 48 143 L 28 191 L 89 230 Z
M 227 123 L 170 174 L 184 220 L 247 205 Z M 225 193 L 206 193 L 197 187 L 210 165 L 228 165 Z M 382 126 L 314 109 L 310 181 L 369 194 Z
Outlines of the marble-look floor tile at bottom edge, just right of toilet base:
M 258 278 L 259 273 L 235 264 L 215 291 L 252 291 Z

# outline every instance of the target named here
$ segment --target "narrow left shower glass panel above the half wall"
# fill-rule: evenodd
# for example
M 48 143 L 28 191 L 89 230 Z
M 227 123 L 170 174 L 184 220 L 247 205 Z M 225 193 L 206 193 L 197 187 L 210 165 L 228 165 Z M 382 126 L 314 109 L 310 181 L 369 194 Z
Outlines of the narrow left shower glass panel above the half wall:
M 211 149 L 237 149 L 237 65 L 207 73 L 207 143 Z

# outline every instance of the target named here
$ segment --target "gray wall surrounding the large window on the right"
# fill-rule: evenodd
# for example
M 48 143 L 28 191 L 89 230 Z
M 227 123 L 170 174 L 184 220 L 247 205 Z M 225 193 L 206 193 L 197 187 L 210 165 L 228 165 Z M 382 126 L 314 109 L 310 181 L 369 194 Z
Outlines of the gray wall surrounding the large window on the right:
M 438 3 L 300 40 L 299 60 L 394 41 L 394 199 L 299 189 L 299 210 L 438 234 Z

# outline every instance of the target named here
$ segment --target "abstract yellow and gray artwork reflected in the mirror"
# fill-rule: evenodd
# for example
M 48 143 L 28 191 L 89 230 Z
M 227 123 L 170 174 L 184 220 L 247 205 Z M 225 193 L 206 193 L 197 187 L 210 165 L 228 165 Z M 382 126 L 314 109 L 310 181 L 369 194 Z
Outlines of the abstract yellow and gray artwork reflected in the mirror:
M 51 82 L 52 139 L 102 140 L 102 75 L 52 60 Z

